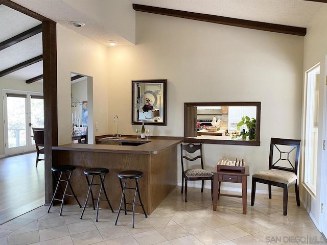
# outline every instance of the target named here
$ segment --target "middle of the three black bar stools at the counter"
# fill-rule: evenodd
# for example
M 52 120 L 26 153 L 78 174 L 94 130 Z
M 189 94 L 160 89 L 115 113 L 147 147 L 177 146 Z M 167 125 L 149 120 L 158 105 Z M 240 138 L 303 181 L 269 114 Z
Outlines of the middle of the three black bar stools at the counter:
M 82 217 L 83 217 L 83 213 L 84 213 L 85 207 L 87 205 L 88 197 L 89 197 L 89 195 L 91 193 L 93 210 L 96 210 L 96 208 L 95 208 L 96 205 L 94 204 L 94 200 L 98 200 L 98 202 L 97 202 L 97 215 L 96 215 L 96 222 L 98 222 L 99 202 L 100 201 L 107 201 L 108 204 L 109 204 L 109 207 L 111 209 L 111 212 L 113 212 L 113 209 L 111 207 L 110 201 L 109 201 L 108 196 L 107 196 L 106 189 L 104 188 L 104 184 L 103 184 L 104 179 L 106 177 L 106 174 L 109 173 L 109 169 L 108 168 L 103 168 L 103 167 L 87 168 L 87 169 L 85 169 L 83 171 L 83 173 L 84 173 L 84 175 L 86 177 L 86 181 L 87 181 L 87 184 L 88 184 L 88 192 L 87 192 L 85 204 L 84 204 L 83 211 L 82 211 L 82 214 L 81 214 L 80 219 L 82 219 Z M 92 176 L 91 181 L 89 181 L 89 179 L 87 177 L 88 175 Z M 93 183 L 93 180 L 94 180 L 94 177 L 95 176 L 99 176 L 101 184 L 95 184 L 95 183 Z M 92 185 L 98 185 L 98 186 L 100 186 L 98 199 L 94 198 L 94 196 L 93 196 L 93 192 L 92 192 L 92 189 L 91 189 Z M 101 200 L 100 199 L 101 198 L 101 192 L 102 192 L 102 190 L 104 192 L 104 195 L 106 197 L 106 200 Z

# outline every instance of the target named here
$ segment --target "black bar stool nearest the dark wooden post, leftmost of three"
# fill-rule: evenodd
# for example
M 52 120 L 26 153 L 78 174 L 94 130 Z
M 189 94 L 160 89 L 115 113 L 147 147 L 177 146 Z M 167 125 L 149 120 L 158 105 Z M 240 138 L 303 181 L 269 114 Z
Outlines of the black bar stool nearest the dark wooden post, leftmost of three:
M 52 197 L 52 200 L 51 200 L 51 203 L 50 203 L 50 206 L 49 206 L 49 209 L 48 209 L 48 213 L 50 212 L 50 208 L 51 206 L 53 205 L 53 201 L 56 200 L 56 201 L 60 201 L 61 202 L 61 207 L 60 207 L 60 212 L 59 212 L 59 215 L 61 216 L 61 213 L 62 213 L 62 206 L 63 206 L 63 203 L 65 201 L 65 196 L 67 195 L 68 197 L 74 197 L 78 203 L 78 205 L 80 206 L 80 208 L 82 207 L 80 202 L 78 201 L 77 197 L 76 197 L 76 194 L 73 190 L 73 187 L 72 187 L 72 184 L 71 184 L 71 177 L 72 177 L 72 174 L 73 174 L 73 170 L 76 169 L 75 166 L 73 165 L 61 165 L 61 166 L 53 166 L 51 168 L 52 170 L 52 173 L 54 174 L 55 176 L 55 179 L 57 181 L 57 186 L 56 186 L 56 190 L 55 190 L 55 193 L 53 194 L 53 197 Z M 57 179 L 57 176 L 56 176 L 56 173 L 60 173 L 59 175 L 59 179 Z M 69 173 L 69 175 L 68 175 Z M 66 178 L 63 178 L 63 177 L 66 177 Z M 62 191 L 62 188 L 61 188 L 61 185 L 60 185 L 60 182 L 66 182 L 66 186 L 65 186 L 65 189 L 64 191 Z M 67 194 L 67 188 L 71 188 L 71 191 L 73 194 Z M 59 191 L 59 188 L 62 192 L 62 199 L 57 199 L 55 198 L 57 192 Z

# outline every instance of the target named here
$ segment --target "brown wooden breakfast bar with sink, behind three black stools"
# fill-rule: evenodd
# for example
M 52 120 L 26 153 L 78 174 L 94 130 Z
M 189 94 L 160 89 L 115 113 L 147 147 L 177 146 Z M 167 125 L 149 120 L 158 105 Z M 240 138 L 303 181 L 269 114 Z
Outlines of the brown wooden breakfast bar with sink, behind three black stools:
M 97 144 L 64 144 L 53 146 L 57 151 L 58 165 L 76 166 L 71 183 L 81 203 L 84 203 L 88 190 L 83 170 L 91 167 L 109 169 L 105 188 L 114 210 L 118 210 L 121 200 L 121 186 L 117 174 L 124 170 L 139 170 L 143 177 L 139 182 L 142 202 L 146 212 L 151 214 L 177 185 L 177 145 L 181 137 L 155 137 L 136 139 L 134 136 L 97 136 Z M 131 182 L 130 184 L 133 184 Z M 96 194 L 97 195 L 97 194 Z M 134 192 L 126 193 L 133 199 Z M 66 198 L 67 203 L 76 204 L 74 198 Z M 91 202 L 91 200 L 89 200 Z M 100 202 L 101 208 L 109 208 L 108 203 Z M 141 207 L 136 212 L 142 213 Z

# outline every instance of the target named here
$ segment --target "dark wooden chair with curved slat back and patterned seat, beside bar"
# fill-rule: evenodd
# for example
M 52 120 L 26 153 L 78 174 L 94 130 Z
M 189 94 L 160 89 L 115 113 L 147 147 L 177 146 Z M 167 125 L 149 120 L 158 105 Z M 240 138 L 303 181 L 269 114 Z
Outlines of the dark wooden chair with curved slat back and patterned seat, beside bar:
M 185 203 L 188 202 L 188 181 L 201 180 L 201 192 L 203 192 L 203 185 L 205 180 L 211 181 L 211 191 L 213 190 L 213 175 L 211 172 L 204 170 L 203 158 L 202 158 L 202 143 L 188 143 L 180 145 L 180 158 L 182 164 L 182 191 L 185 182 Z M 198 160 L 199 159 L 199 160 Z M 196 167 L 192 164 L 192 168 L 186 167 L 191 162 L 198 160 Z M 196 162 L 195 162 L 196 163 Z

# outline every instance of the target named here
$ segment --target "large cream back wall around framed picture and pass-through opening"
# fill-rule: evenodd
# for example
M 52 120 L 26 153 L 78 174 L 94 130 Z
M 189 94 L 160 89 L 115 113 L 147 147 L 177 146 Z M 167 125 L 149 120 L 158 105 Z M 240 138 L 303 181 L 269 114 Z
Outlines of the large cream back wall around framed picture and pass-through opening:
M 149 126 L 160 136 L 183 136 L 185 102 L 260 101 L 261 146 L 204 146 L 208 170 L 237 157 L 251 176 L 268 167 L 271 137 L 300 138 L 302 56 L 303 37 L 136 12 L 136 45 L 108 48 L 109 118 L 117 114 L 120 133 L 135 134 L 131 80 L 168 79 L 167 126 Z

